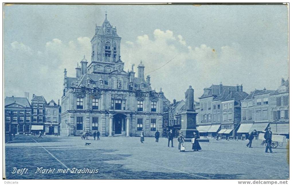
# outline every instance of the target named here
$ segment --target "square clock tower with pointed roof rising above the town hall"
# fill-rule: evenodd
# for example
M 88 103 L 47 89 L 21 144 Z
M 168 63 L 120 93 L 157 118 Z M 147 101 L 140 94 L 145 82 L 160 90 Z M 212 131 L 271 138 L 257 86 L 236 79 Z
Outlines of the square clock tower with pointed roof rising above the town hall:
M 91 39 L 92 62 L 116 63 L 120 56 L 121 38 L 117 34 L 117 29 L 107 20 L 102 26 L 95 26 L 95 35 Z

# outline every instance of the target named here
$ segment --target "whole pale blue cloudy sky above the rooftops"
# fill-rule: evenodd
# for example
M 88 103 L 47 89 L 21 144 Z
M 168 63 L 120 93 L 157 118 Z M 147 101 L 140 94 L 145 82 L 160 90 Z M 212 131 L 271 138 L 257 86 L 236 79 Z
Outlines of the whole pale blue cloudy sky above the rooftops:
M 4 6 L 4 96 L 61 100 L 64 68 L 76 77 L 84 55 L 90 62 L 105 11 L 122 38 L 124 70 L 135 64 L 138 75 L 142 60 L 152 89 L 170 101 L 190 85 L 198 100 L 220 82 L 250 93 L 288 78 L 284 5 L 12 5 Z

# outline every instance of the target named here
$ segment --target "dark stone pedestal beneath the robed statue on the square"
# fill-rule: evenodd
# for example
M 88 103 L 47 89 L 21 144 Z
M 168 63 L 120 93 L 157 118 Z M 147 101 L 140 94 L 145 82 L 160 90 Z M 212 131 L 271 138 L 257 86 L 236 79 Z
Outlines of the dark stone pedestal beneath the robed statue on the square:
M 181 115 L 181 129 L 185 138 L 192 138 L 194 136 L 194 132 L 198 134 L 196 130 L 196 113 L 194 110 L 187 110 L 185 112 L 180 113 Z

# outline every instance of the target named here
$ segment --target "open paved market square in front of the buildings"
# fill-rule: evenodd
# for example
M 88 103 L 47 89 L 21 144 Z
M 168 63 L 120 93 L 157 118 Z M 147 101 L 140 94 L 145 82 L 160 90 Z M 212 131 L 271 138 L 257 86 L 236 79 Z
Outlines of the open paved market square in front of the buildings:
M 91 143 L 85 146 L 85 143 Z M 265 153 L 260 141 L 213 140 L 200 143 L 202 150 L 179 152 L 178 141 L 167 147 L 167 139 L 139 137 L 16 136 L 6 143 L 7 179 L 288 179 L 287 143 Z M 98 173 L 36 173 L 37 167 L 88 168 Z M 27 173 L 12 173 L 28 168 Z

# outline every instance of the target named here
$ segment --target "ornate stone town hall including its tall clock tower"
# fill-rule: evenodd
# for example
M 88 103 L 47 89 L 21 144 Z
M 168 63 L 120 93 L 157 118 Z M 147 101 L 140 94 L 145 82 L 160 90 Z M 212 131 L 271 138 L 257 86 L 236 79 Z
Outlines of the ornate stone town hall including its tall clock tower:
M 79 136 L 100 131 L 102 136 L 154 136 L 161 132 L 164 108 L 170 102 L 151 88 L 144 64 L 124 71 L 120 56 L 121 37 L 107 18 L 95 27 L 91 40 L 91 62 L 85 56 L 76 67 L 76 77 L 64 70 L 61 128 L 62 136 Z

